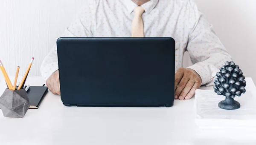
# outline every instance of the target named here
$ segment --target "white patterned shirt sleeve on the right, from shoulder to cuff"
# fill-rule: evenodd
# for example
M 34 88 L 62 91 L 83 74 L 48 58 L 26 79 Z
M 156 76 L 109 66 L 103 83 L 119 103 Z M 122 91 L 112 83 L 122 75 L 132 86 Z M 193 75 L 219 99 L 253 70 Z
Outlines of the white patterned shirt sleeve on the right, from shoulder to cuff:
M 189 66 L 195 70 L 202 79 L 201 85 L 213 85 L 213 80 L 219 68 L 226 61 L 232 58 L 224 45 L 212 29 L 212 25 L 206 20 L 205 16 L 193 4 L 191 21 L 195 22 L 189 34 L 187 51 L 193 65 Z

